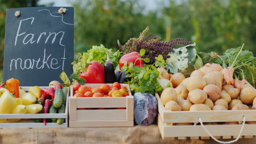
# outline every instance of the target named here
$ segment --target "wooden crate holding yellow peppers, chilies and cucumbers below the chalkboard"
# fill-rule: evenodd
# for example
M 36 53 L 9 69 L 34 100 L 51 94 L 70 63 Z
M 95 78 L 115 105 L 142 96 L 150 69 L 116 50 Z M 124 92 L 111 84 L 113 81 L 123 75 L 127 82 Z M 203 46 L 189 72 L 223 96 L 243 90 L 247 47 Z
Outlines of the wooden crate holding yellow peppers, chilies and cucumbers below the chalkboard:
M 30 87 L 21 87 L 24 91 L 28 91 Z M 43 87 L 40 87 L 43 88 Z M 45 87 L 48 88 L 48 87 Z M 0 128 L 67 128 L 68 127 L 68 96 L 66 95 L 66 111 L 65 113 L 37 113 L 37 114 L 1 114 L 0 119 L 7 119 L 5 123 L 0 123 Z M 16 123 L 8 122 L 11 118 L 24 118 Z M 59 125 L 57 123 L 35 123 L 34 118 L 65 118 L 65 123 Z

